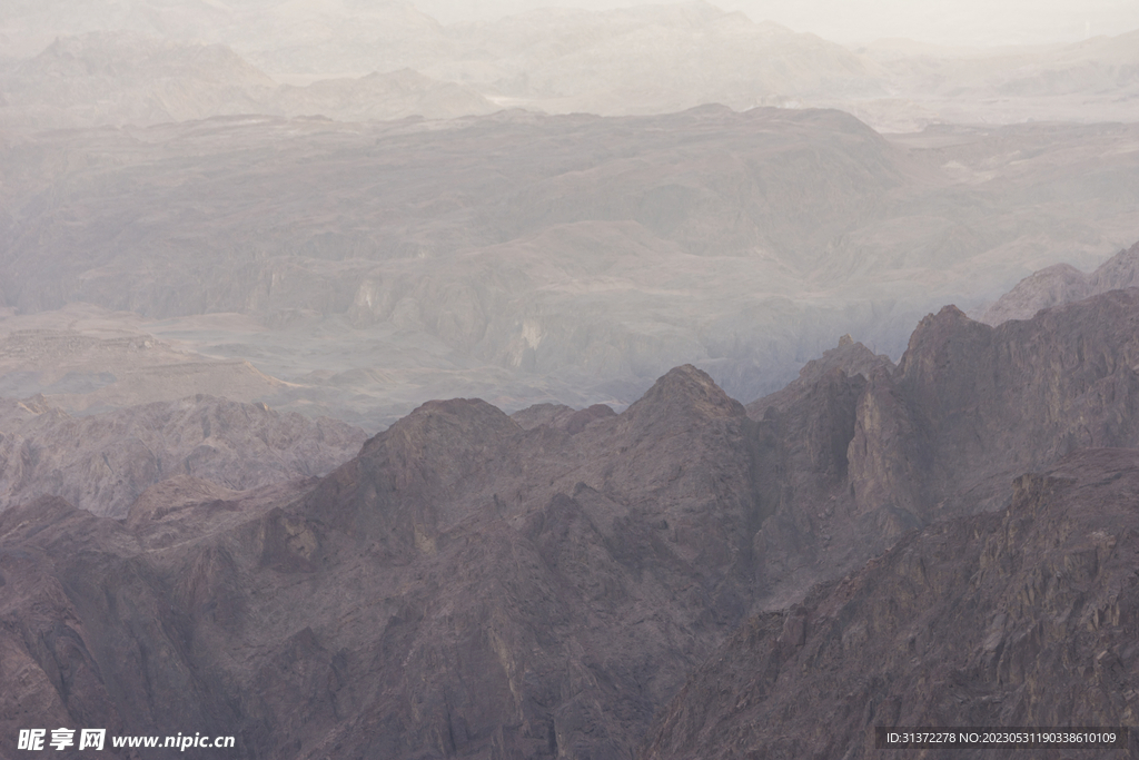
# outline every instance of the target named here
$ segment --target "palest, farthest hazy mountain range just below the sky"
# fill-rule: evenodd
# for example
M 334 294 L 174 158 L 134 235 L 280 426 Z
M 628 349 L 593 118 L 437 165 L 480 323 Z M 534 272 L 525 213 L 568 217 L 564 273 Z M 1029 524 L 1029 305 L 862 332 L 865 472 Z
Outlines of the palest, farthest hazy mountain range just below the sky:
M 835 107 L 886 131 L 1130 121 L 1139 32 L 1121 32 L 1034 48 L 883 40 L 850 49 L 706 2 L 448 25 L 408 2 L 48 2 L 0 15 L 13 56 L 0 65 L 0 124 L 511 107 L 616 116 L 711 103 Z

